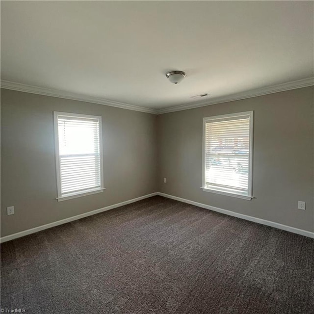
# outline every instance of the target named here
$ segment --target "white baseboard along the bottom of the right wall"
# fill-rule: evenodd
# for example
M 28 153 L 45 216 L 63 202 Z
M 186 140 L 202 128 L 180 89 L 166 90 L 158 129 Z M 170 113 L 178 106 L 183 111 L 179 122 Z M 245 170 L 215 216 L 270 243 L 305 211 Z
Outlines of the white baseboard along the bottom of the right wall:
M 221 208 L 209 206 L 209 205 L 206 205 L 206 204 L 202 204 L 202 203 L 186 200 L 184 198 L 173 196 L 173 195 L 169 195 L 169 194 L 165 194 L 165 193 L 157 192 L 157 195 L 160 195 L 160 196 L 163 196 L 163 197 L 167 197 L 167 198 L 171 198 L 172 200 L 176 200 L 176 201 L 179 201 L 179 202 L 195 205 L 195 206 L 198 206 L 198 207 L 201 207 L 201 208 L 205 208 L 205 209 L 221 212 L 221 213 L 229 215 L 229 216 L 234 216 L 234 217 L 237 217 L 237 218 L 241 218 L 241 219 L 257 222 L 257 223 L 262 224 L 262 225 L 266 225 L 266 226 L 274 227 L 274 228 L 277 228 L 277 229 L 289 231 L 289 232 L 292 232 L 294 234 L 305 235 L 305 236 L 314 238 L 314 232 L 310 232 L 310 231 L 306 231 L 306 230 L 302 230 L 302 229 L 298 229 L 298 228 L 282 225 L 282 224 L 279 224 L 277 222 L 264 220 L 264 219 L 257 218 L 257 217 L 252 217 L 252 216 L 240 214 L 240 213 L 237 213 L 237 212 L 234 212 L 234 211 L 231 211 L 231 210 L 221 209 Z

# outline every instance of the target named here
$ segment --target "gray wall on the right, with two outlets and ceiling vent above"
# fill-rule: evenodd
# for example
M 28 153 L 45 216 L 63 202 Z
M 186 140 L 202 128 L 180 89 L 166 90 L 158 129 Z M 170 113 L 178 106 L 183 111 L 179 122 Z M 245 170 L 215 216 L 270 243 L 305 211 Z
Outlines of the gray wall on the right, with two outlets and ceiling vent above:
M 158 190 L 314 231 L 313 91 L 307 87 L 158 116 Z M 203 192 L 202 118 L 249 110 L 254 110 L 255 198 Z M 297 209 L 298 200 L 306 201 L 305 211 Z

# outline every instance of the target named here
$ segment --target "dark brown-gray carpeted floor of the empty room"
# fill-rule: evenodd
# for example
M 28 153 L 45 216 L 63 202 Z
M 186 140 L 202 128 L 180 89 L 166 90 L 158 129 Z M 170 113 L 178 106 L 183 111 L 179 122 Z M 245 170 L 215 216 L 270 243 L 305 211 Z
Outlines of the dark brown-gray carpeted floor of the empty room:
M 314 314 L 314 239 L 152 197 L 1 245 L 26 314 Z

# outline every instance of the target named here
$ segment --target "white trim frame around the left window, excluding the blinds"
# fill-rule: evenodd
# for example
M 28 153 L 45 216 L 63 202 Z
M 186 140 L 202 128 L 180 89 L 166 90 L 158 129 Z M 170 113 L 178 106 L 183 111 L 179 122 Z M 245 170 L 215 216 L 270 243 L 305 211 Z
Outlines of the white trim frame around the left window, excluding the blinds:
M 58 133 L 58 116 L 68 116 L 68 117 L 82 117 L 82 118 L 92 118 L 98 119 L 99 121 L 99 151 L 100 151 L 100 182 L 101 186 L 96 189 L 85 190 L 82 192 L 69 193 L 66 196 L 61 194 L 61 169 L 59 161 L 59 133 Z M 82 197 L 86 195 L 91 195 L 95 193 L 101 193 L 105 190 L 104 187 L 104 170 L 103 170 L 103 128 L 102 128 L 102 117 L 93 116 L 87 114 L 70 113 L 70 112 L 60 112 L 53 111 L 53 127 L 54 127 L 54 149 L 55 149 L 55 165 L 56 165 L 56 179 L 57 179 L 57 197 L 58 202 L 70 200 L 77 197 Z

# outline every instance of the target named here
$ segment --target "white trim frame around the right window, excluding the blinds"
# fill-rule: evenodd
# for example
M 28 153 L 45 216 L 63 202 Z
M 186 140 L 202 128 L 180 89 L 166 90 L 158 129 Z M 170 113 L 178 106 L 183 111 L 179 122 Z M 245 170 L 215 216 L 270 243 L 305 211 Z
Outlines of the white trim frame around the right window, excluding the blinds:
M 237 112 L 237 113 L 230 113 L 224 114 L 219 116 L 212 116 L 203 118 L 203 161 L 202 161 L 202 190 L 205 192 L 221 194 L 236 198 L 241 198 L 245 200 L 251 200 L 253 198 L 253 117 L 254 111 L 245 111 L 245 112 Z M 217 188 L 209 188 L 206 186 L 205 182 L 205 169 L 206 169 L 206 158 L 205 158 L 205 142 L 206 142 L 206 123 L 213 122 L 213 121 L 224 121 L 224 120 L 232 120 L 232 118 L 239 118 L 242 116 L 249 116 L 250 118 L 250 140 L 249 140 L 249 172 L 248 172 L 248 195 L 242 195 L 237 193 L 230 193 L 224 190 L 220 190 Z

